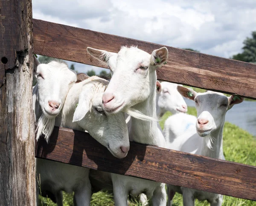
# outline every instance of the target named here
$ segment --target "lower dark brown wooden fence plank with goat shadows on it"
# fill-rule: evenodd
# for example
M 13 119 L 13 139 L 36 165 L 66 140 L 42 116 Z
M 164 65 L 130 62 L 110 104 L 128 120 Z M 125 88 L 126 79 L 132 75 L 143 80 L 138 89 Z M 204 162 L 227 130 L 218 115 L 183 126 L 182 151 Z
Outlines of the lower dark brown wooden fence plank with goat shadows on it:
M 207 192 L 256 200 L 256 167 L 214 160 L 131 142 L 123 159 L 115 158 L 88 133 L 55 127 L 47 145 L 36 144 L 35 156 L 91 169 L 131 175 Z

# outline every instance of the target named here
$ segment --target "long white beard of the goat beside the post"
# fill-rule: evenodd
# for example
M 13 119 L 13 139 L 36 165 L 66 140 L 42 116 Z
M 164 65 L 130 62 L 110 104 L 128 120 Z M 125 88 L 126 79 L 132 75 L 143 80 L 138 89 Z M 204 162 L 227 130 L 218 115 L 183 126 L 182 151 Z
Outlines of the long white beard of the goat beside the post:
M 36 140 L 38 141 L 41 135 L 44 135 L 45 140 L 49 143 L 49 138 L 52 134 L 53 128 L 55 124 L 55 118 L 49 119 L 47 118 L 44 113 L 38 120 L 38 127 L 36 129 Z

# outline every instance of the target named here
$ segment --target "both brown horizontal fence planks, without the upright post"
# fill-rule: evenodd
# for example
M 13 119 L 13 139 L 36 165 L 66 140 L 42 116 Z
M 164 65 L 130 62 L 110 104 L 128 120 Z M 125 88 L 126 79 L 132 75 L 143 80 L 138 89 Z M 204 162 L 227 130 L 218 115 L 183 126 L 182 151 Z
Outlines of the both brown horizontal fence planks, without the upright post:
M 101 65 L 87 46 L 118 52 L 122 45 L 138 45 L 148 53 L 163 46 L 35 19 L 33 34 L 35 54 L 94 66 Z M 166 47 L 168 63 L 157 71 L 158 79 L 256 99 L 256 65 Z M 86 133 L 58 127 L 50 139 L 50 146 L 36 145 L 36 157 L 256 200 L 254 166 L 134 142 L 119 160 Z

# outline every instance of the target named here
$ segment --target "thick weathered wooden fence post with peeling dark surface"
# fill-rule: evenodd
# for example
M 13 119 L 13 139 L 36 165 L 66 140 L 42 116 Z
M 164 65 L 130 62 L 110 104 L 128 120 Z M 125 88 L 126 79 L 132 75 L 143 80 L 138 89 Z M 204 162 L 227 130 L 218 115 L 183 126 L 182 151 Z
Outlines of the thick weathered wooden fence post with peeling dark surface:
M 32 0 L 0 0 L 0 206 L 35 206 Z

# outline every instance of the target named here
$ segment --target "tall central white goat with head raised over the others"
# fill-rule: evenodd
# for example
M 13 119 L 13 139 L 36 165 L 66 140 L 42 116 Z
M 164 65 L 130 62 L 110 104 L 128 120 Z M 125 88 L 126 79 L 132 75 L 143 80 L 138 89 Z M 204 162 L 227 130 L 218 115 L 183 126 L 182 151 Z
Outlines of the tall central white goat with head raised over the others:
M 116 53 L 87 48 L 90 55 L 107 64 L 112 78 L 102 96 L 104 108 L 109 113 L 119 113 L 130 108 L 157 118 L 156 69 L 168 58 L 163 47 L 148 54 L 136 47 L 122 47 Z M 131 114 L 131 113 L 130 113 Z M 165 140 L 157 121 L 142 121 L 131 117 L 128 122 L 131 141 L 164 147 Z M 139 195 L 146 191 L 154 206 L 166 206 L 165 184 L 140 178 L 111 174 L 116 206 L 127 206 L 128 194 Z

